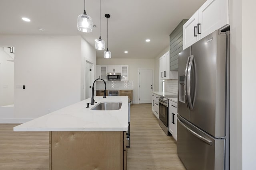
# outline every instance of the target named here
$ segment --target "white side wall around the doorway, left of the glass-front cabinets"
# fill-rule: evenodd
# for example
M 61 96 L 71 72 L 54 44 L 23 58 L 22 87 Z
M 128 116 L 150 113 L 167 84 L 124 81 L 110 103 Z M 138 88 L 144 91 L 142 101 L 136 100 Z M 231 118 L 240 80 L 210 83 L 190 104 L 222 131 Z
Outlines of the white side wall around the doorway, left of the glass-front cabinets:
M 92 47 L 87 41 L 81 38 L 81 94 L 80 100 L 85 99 L 85 77 L 86 77 L 86 61 L 93 64 L 91 75 L 96 73 L 96 49 Z M 88 71 L 88 70 L 87 70 Z M 93 82 L 94 76 L 91 77 L 91 82 Z M 87 95 L 86 95 L 87 96 Z

